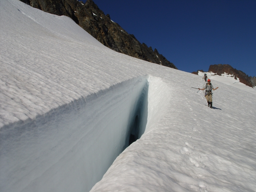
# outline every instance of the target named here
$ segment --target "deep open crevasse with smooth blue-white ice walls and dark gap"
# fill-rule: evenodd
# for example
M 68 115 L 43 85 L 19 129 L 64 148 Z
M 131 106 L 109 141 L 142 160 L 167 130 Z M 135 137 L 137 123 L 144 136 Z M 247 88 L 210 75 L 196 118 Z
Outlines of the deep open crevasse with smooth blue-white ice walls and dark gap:
M 89 191 L 157 121 L 166 90 L 160 78 L 141 76 L 2 127 L 0 191 Z

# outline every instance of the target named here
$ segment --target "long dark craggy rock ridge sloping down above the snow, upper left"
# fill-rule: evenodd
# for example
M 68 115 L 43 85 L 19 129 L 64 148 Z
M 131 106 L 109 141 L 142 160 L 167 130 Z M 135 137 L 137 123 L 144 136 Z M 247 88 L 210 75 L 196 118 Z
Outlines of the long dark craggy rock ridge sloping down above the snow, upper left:
M 177 69 L 155 49 L 141 44 L 105 15 L 92 1 L 78 0 L 20 0 L 32 7 L 55 15 L 65 15 L 110 49 L 159 65 Z

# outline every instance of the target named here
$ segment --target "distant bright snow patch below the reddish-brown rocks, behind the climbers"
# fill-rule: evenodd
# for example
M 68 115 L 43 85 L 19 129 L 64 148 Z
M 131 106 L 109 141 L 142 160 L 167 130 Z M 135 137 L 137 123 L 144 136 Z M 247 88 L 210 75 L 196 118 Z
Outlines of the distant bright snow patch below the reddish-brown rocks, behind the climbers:
M 215 73 L 212 73 L 212 72 L 198 71 L 198 75 L 202 76 L 202 80 L 203 80 L 204 73 L 206 73 L 207 77 L 211 80 L 215 80 L 215 81 L 227 84 L 229 86 L 236 87 L 238 89 L 241 89 L 243 91 L 250 92 L 250 93 L 256 95 L 256 88 L 252 88 L 252 87 L 249 87 L 249 86 L 241 83 L 239 81 L 239 78 L 235 79 L 233 74 L 224 73 L 224 74 L 221 74 L 221 76 L 219 76 L 219 75 L 216 75 Z M 204 82 L 204 80 L 203 80 L 203 82 Z M 203 84 L 205 84 L 205 83 L 203 83 Z

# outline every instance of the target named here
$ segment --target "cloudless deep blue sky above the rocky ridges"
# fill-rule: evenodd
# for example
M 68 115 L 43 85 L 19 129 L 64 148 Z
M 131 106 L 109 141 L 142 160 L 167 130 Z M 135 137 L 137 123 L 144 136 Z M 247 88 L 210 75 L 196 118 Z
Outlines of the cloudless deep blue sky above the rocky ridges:
M 256 0 L 93 1 L 182 71 L 229 64 L 256 76 Z

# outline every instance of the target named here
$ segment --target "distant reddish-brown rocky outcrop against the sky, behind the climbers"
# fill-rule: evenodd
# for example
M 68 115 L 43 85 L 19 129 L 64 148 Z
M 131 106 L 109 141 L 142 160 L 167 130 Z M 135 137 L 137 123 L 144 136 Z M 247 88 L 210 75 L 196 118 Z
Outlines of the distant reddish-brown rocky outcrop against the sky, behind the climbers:
M 256 77 L 248 76 L 243 71 L 237 70 L 236 68 L 231 67 L 228 64 L 216 64 L 210 65 L 208 71 L 197 70 L 197 72 L 192 72 L 193 74 L 198 75 L 198 71 L 201 72 L 212 72 L 216 75 L 221 75 L 224 73 L 230 74 L 235 77 L 235 79 L 239 78 L 239 81 L 247 86 L 253 87 L 256 86 Z

